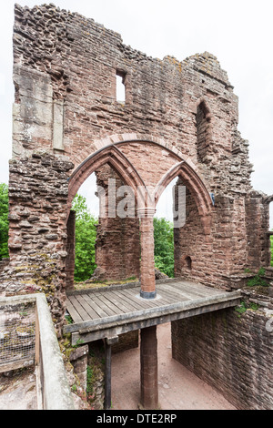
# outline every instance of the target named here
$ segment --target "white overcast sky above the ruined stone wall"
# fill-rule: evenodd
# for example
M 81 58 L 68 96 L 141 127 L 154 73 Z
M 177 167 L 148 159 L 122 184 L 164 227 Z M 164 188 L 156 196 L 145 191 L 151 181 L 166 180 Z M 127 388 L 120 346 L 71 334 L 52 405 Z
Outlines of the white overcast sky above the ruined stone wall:
M 2 2 L 0 17 L 0 182 L 6 183 L 14 100 L 14 3 Z M 45 2 L 18 3 L 32 7 Z M 205 51 L 217 56 L 239 97 L 238 129 L 249 141 L 250 161 L 255 169 L 253 188 L 273 194 L 272 0 L 56 0 L 53 3 L 95 19 L 119 33 L 126 45 L 148 56 L 161 59 L 176 56 L 179 61 Z M 272 218 L 273 213 L 271 224 Z

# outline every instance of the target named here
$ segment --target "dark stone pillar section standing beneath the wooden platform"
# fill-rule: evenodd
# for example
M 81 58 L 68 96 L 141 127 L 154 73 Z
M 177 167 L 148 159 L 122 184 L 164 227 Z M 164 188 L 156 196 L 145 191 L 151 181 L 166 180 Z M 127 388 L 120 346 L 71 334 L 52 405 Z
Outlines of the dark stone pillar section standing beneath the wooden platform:
M 158 408 L 157 383 L 157 326 L 140 331 L 140 406 Z

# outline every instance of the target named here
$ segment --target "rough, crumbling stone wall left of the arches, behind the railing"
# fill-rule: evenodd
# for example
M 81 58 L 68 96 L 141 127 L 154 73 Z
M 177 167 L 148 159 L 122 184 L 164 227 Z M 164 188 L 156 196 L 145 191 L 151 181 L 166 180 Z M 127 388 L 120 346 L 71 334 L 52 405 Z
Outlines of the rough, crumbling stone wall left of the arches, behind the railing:
M 67 176 L 66 158 L 35 152 L 10 162 L 9 254 L 0 292 L 45 292 L 56 330 L 65 312 Z

